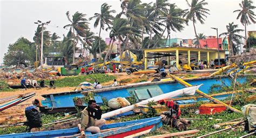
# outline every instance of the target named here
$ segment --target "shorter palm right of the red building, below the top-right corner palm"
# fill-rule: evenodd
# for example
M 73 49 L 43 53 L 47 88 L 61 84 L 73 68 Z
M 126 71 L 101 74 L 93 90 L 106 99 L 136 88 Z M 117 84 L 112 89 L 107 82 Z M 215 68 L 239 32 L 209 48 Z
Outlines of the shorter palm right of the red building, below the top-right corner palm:
M 241 31 L 244 31 L 244 30 L 241 30 L 241 29 L 237 29 L 238 25 L 237 24 L 234 24 L 233 22 L 232 23 L 228 23 L 228 25 L 226 25 L 226 28 L 227 28 L 227 32 L 224 32 L 224 33 L 221 33 L 219 36 L 225 36 L 228 37 L 228 43 L 230 44 L 230 48 L 231 48 L 231 55 L 234 56 L 234 45 L 233 45 L 233 42 L 237 42 L 239 43 L 239 39 L 242 39 L 244 37 L 240 36 L 239 34 L 236 34 L 236 33 L 240 33 Z

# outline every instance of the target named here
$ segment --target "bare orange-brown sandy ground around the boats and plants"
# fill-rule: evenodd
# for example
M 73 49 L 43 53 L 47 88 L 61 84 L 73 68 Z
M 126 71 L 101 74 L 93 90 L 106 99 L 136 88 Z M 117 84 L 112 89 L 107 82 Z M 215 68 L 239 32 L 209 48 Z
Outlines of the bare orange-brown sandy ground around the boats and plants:
M 194 76 L 200 77 L 200 76 L 207 76 L 210 75 L 209 72 L 200 72 L 200 73 L 177 73 L 177 75 L 187 75 L 187 74 L 193 74 Z M 123 79 L 132 79 L 132 81 L 129 82 L 130 83 L 134 83 L 136 82 L 138 79 L 147 79 L 147 81 L 151 81 L 153 79 L 152 78 L 147 78 L 146 74 L 142 75 L 142 74 L 131 74 L 131 75 L 127 75 L 125 72 L 123 73 L 109 73 L 109 75 L 114 75 L 117 78 L 117 81 L 119 82 L 120 80 Z M 109 82 L 105 82 L 103 83 L 103 86 L 107 86 L 107 85 L 112 85 L 113 81 L 109 81 Z M 122 84 L 125 85 L 125 84 Z M 42 89 L 19 89 L 18 91 L 13 91 L 13 92 L 1 92 L 1 96 L 0 98 L 6 98 L 8 96 L 12 96 L 12 95 L 17 95 L 17 94 L 25 94 L 25 93 L 30 93 L 30 92 L 35 92 L 36 95 L 33 96 L 32 98 L 19 103 L 16 106 L 10 107 L 8 109 L 5 109 L 4 111 L 0 112 L 0 124 L 4 123 L 4 122 L 21 122 L 21 121 L 25 121 L 25 108 L 30 106 L 32 101 L 34 99 L 38 99 L 38 100 L 44 100 L 44 98 L 41 96 L 42 94 L 50 94 L 50 93 L 60 93 L 60 92 L 68 92 L 68 91 L 73 91 L 73 89 L 75 89 L 75 87 L 62 87 L 62 88 L 56 88 L 56 89 L 49 89 L 49 88 L 42 88 Z

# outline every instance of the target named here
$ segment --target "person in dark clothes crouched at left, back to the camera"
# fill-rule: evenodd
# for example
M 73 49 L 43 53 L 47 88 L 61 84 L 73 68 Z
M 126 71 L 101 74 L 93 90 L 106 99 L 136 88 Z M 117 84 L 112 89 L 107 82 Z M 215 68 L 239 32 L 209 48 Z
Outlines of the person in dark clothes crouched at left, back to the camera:
M 39 100 L 35 99 L 32 104 L 32 106 L 25 108 L 25 125 L 29 127 L 29 131 L 31 131 L 32 128 L 42 127 L 41 113 L 37 109 L 39 106 Z

